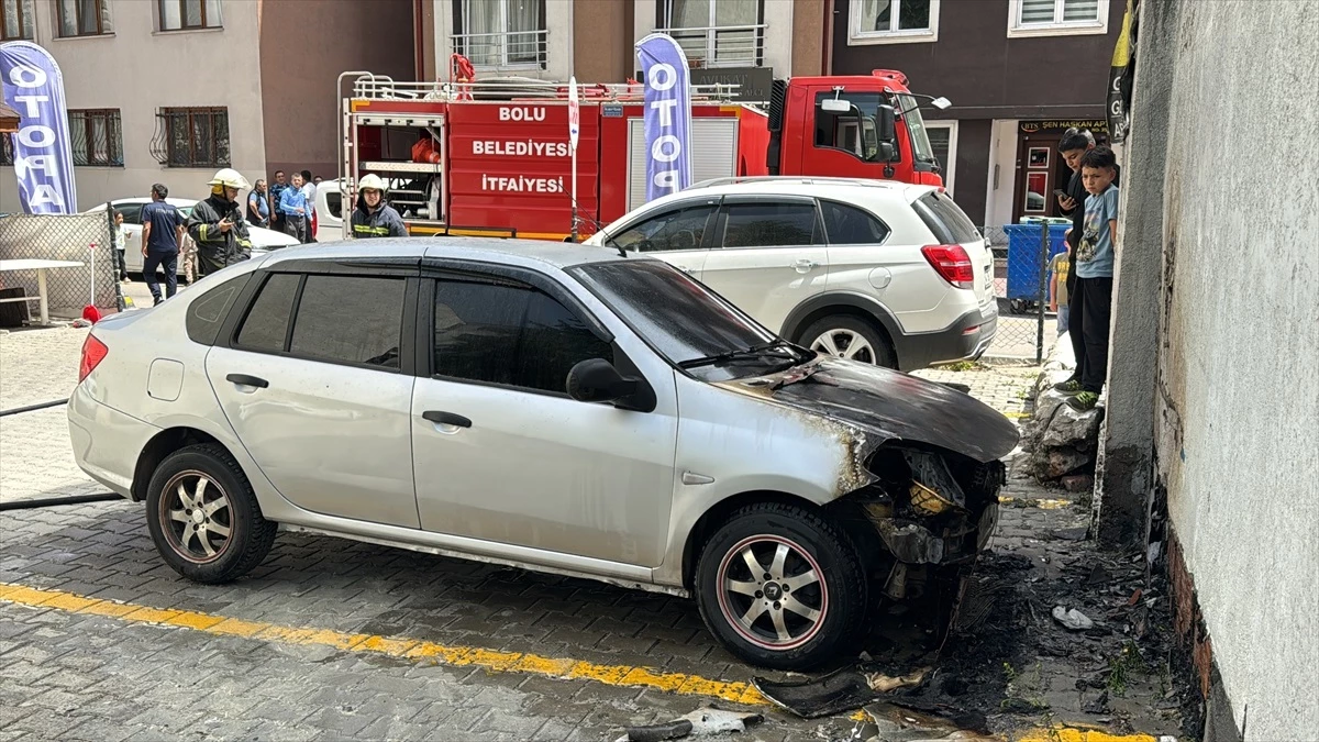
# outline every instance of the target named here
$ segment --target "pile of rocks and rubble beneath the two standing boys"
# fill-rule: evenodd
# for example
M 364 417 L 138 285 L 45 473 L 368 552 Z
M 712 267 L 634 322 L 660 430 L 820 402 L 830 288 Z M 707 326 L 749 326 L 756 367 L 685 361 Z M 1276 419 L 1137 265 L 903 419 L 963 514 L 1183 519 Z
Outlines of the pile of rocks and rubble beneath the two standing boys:
M 1067 395 L 1054 391 L 1054 384 L 1071 378 L 1075 367 L 1064 335 L 1035 380 L 1035 412 L 1022 425 L 1021 448 L 1026 453 L 1022 466 L 1041 483 L 1057 482 L 1068 491 L 1084 492 L 1095 483 L 1104 408 L 1078 412 L 1066 404 Z

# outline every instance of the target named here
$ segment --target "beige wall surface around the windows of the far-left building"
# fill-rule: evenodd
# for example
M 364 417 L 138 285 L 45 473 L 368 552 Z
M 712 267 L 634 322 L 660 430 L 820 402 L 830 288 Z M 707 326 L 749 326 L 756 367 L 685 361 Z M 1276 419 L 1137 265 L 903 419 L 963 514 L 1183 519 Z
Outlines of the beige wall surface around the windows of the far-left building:
M 111 4 L 113 33 L 54 38 L 55 4 L 36 0 L 34 42 L 59 63 L 70 108 L 119 108 L 123 168 L 78 168 L 78 209 L 115 198 L 146 195 L 153 182 L 170 195 L 204 198 L 214 169 L 165 168 L 150 153 L 156 110 L 171 106 L 227 106 L 230 157 L 253 180 L 265 172 L 261 127 L 261 71 L 257 55 L 257 3 L 226 1 L 222 29 L 157 32 L 156 3 Z M 0 211 L 18 211 L 12 168 L 0 178 Z

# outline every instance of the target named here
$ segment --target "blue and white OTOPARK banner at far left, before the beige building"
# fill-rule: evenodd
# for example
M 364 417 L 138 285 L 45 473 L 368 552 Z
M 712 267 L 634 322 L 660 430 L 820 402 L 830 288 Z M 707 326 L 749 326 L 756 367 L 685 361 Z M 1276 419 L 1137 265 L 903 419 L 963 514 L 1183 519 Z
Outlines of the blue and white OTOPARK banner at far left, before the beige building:
M 75 214 L 73 143 L 59 65 L 36 44 L 0 44 L 4 100 L 21 116 L 13 135 L 18 199 L 28 214 Z

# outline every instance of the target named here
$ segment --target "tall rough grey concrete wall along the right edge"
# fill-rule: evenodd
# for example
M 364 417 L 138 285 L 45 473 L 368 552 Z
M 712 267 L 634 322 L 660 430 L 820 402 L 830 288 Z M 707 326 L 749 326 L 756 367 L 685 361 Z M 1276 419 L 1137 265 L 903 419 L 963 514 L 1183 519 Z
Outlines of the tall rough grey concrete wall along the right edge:
M 1220 672 L 1229 705 L 1210 716 L 1235 727 L 1207 738 L 1311 739 L 1319 726 L 1319 149 L 1306 143 L 1319 110 L 1319 3 L 1268 3 L 1268 12 L 1242 0 L 1175 5 L 1174 21 L 1142 29 L 1137 51 L 1137 84 L 1169 91 L 1166 164 L 1158 170 L 1157 157 L 1138 154 L 1141 136 L 1158 136 L 1142 132 L 1122 178 L 1133 191 L 1163 195 L 1161 338 L 1150 359 L 1155 473 L 1207 630 L 1199 659 Z M 1146 55 L 1151 46 L 1173 51 Z M 1141 96 L 1136 120 L 1157 119 Z M 1136 170 L 1141 164 L 1151 170 Z M 1149 232 L 1134 224 L 1134 197 L 1124 201 L 1120 251 L 1141 250 L 1130 242 Z M 1130 265 L 1124 257 L 1121 271 Z M 1148 347 L 1122 341 L 1126 330 L 1141 335 L 1136 325 L 1148 318 L 1121 312 L 1119 372 L 1119 356 Z M 1111 396 L 1125 384 L 1144 384 L 1137 396 L 1149 389 L 1142 375 L 1115 374 Z

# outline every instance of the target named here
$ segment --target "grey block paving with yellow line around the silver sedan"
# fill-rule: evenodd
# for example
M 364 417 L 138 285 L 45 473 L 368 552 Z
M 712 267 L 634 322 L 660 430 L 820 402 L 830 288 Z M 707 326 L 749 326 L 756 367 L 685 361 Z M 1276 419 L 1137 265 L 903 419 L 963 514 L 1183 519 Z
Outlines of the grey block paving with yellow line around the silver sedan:
M 67 396 L 83 335 L 0 337 L 0 407 Z M 1034 371 L 921 375 L 1020 416 Z M 0 499 L 96 490 L 62 408 L 0 425 Z M 1050 496 L 1024 482 L 1005 494 Z M 992 548 L 1083 515 L 1066 504 L 1005 508 Z M 754 704 L 737 694 L 754 673 L 678 598 L 294 533 L 251 577 L 203 586 L 160 561 L 140 504 L 0 512 L 0 742 L 613 739 L 712 697 Z M 855 726 L 754 710 L 766 720 L 747 739 Z

